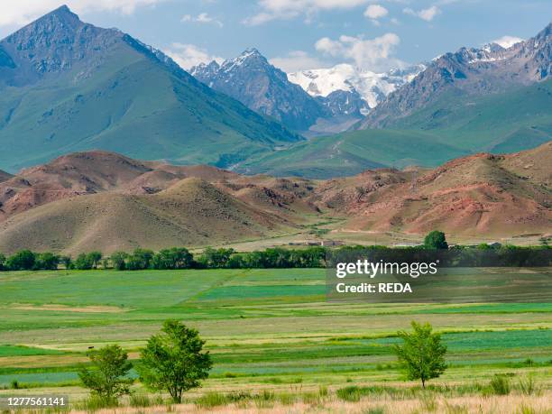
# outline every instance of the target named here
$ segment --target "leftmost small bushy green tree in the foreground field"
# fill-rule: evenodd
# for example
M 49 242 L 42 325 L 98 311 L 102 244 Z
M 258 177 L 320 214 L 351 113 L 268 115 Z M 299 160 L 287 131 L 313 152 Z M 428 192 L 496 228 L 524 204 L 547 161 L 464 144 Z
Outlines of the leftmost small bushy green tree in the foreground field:
M 128 373 L 133 364 L 128 361 L 128 354 L 119 345 L 106 345 L 97 351 L 88 353 L 92 369 L 81 365 L 78 377 L 85 387 L 98 397 L 113 400 L 130 393 L 133 380 Z

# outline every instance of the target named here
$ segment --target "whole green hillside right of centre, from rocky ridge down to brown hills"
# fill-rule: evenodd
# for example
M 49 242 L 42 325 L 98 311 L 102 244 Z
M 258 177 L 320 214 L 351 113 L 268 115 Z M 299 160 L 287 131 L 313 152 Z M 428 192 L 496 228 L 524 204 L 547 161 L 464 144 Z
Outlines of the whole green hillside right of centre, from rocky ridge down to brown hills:
M 552 80 L 486 97 L 451 92 L 390 129 L 314 138 L 237 170 L 331 178 L 377 167 L 435 167 L 474 152 L 518 152 L 552 139 Z

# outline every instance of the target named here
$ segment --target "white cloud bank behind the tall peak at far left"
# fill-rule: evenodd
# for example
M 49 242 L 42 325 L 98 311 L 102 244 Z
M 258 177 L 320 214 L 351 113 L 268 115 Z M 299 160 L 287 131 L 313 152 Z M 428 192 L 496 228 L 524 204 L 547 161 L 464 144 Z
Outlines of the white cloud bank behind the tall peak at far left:
M 77 13 L 111 11 L 133 14 L 136 8 L 157 5 L 166 0 L 66 0 L 69 8 Z M 23 25 L 60 7 L 60 0 L 3 1 L 0 5 L 0 26 Z

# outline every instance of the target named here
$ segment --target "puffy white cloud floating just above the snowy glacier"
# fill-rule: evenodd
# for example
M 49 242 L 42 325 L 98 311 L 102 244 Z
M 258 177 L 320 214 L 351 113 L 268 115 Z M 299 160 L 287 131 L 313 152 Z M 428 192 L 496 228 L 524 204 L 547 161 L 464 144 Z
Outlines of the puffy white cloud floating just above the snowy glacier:
M 327 56 L 353 60 L 359 68 L 380 71 L 404 66 L 402 61 L 392 57 L 399 43 L 400 37 L 395 33 L 385 33 L 374 39 L 341 35 L 336 41 L 324 37 L 315 43 L 315 48 Z

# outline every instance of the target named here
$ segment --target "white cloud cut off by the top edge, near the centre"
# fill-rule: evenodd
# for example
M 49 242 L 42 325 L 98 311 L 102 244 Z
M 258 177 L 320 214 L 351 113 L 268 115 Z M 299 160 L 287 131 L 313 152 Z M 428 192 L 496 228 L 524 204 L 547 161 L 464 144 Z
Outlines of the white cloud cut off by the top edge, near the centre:
M 351 9 L 365 5 L 370 0 L 259 0 L 260 12 L 244 19 L 248 25 L 259 25 L 272 20 L 292 19 L 305 15 L 310 21 L 313 14 L 321 10 Z

